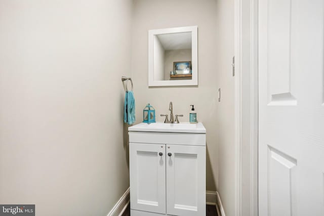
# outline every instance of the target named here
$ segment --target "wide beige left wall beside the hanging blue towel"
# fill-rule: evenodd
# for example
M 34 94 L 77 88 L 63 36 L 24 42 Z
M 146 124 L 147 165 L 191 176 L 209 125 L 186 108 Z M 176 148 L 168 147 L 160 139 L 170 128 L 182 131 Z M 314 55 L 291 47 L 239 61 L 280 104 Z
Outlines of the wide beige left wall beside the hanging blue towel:
M 1 1 L 0 203 L 107 215 L 127 190 L 131 12 L 129 0 Z

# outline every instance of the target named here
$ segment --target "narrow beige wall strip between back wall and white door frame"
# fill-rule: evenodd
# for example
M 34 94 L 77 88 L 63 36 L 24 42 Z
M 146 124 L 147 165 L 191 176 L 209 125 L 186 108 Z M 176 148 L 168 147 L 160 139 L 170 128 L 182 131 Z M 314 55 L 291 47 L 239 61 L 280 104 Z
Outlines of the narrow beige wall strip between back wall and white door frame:
M 225 213 L 235 215 L 235 143 L 234 143 L 234 1 L 218 0 L 216 50 L 217 88 L 221 88 L 221 102 L 217 103 L 218 184 Z

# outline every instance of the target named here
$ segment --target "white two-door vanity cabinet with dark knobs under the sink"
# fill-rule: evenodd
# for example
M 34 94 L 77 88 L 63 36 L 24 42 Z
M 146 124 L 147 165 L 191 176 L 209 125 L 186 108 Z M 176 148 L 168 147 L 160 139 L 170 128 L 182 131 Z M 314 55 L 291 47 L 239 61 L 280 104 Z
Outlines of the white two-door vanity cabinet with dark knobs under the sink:
M 149 125 L 129 127 L 131 216 L 205 216 L 205 127 L 186 125 L 203 126 L 197 133 L 138 128 Z

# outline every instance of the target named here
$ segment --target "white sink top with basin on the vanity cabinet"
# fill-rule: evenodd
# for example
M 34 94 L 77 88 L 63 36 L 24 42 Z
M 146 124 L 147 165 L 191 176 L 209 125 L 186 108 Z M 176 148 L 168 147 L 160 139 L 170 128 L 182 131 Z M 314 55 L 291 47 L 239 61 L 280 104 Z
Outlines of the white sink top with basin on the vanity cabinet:
M 128 131 L 140 132 L 173 132 L 173 133 L 195 133 L 206 134 L 206 128 L 203 123 L 190 124 L 189 122 L 181 123 L 139 123 L 128 128 Z

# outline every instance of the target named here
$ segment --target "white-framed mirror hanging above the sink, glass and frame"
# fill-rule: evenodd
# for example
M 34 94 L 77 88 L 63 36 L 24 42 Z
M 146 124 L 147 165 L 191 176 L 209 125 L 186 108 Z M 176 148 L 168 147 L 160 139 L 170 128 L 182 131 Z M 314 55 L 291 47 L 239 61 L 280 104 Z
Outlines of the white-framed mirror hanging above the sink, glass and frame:
M 197 26 L 149 30 L 148 86 L 197 84 Z

